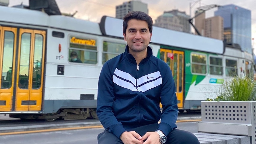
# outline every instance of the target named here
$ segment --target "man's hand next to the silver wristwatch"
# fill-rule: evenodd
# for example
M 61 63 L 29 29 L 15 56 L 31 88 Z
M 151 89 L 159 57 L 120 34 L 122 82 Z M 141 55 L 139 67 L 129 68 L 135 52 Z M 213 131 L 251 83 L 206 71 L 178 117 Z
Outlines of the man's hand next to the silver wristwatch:
M 157 132 L 147 132 L 141 140 L 146 140 L 143 144 L 161 144 L 159 138 L 160 136 Z

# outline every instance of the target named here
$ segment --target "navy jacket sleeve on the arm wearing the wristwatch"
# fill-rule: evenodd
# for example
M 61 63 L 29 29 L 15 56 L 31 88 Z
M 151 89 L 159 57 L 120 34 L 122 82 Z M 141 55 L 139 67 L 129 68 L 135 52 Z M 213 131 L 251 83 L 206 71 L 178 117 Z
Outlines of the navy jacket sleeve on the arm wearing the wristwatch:
M 159 124 L 158 129 L 165 135 L 168 135 L 173 129 L 177 128 L 175 123 L 178 117 L 178 105 L 172 72 L 167 64 L 166 67 L 166 70 L 162 71 L 166 73 L 162 77 L 163 83 L 160 93 L 160 101 L 163 106 L 163 110 L 161 123 Z

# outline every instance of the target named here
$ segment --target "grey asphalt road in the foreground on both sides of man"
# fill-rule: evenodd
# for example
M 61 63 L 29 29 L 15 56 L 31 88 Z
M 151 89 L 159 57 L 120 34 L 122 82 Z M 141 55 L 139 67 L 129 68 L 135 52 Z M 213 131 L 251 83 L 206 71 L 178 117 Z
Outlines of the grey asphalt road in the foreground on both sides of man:
M 178 122 L 178 129 L 197 133 L 197 122 Z M 103 128 L 0 135 L 1 144 L 97 144 Z

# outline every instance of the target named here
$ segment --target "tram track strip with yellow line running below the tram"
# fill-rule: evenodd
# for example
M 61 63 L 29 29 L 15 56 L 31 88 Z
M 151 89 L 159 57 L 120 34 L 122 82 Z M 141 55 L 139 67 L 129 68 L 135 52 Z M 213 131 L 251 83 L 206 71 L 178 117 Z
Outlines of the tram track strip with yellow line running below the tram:
M 188 121 L 201 121 L 201 113 L 179 113 L 177 123 Z M 7 116 L 3 118 L 0 115 L 0 135 L 89 128 L 102 128 L 102 125 L 97 119 L 56 120 L 49 122 L 43 120 L 13 119 Z

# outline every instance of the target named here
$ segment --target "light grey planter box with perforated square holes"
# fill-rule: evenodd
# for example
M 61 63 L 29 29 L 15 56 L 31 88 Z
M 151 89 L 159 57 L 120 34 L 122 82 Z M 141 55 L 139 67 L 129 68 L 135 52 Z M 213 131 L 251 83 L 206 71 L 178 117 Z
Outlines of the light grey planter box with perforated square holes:
M 202 101 L 198 132 L 252 137 L 256 144 L 256 102 Z

